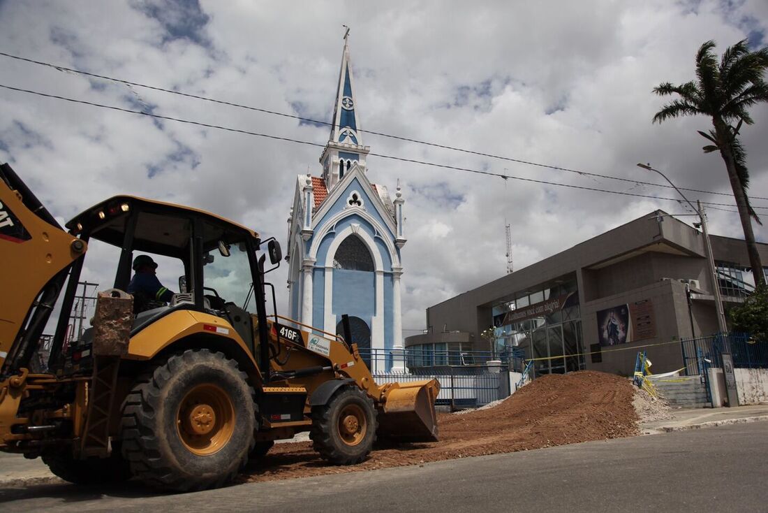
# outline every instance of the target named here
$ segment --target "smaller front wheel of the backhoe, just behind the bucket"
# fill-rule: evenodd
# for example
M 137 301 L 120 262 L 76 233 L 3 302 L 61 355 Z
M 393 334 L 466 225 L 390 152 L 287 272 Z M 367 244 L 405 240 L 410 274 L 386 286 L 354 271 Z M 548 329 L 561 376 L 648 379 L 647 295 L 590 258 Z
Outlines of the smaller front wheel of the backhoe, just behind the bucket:
M 312 408 L 310 438 L 319 455 L 334 465 L 356 465 L 376 441 L 376 408 L 356 387 L 340 388 L 327 405 Z

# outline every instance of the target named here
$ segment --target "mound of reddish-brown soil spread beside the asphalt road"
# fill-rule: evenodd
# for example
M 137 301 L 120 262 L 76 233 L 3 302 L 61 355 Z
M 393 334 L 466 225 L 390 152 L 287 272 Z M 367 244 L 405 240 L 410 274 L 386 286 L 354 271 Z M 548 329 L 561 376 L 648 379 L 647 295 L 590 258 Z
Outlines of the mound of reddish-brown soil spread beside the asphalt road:
M 271 481 L 418 465 L 637 435 L 634 387 L 626 378 L 595 371 L 549 375 L 495 408 L 466 415 L 438 414 L 440 441 L 379 445 L 359 465 L 328 465 L 311 442 L 277 444 L 242 481 Z

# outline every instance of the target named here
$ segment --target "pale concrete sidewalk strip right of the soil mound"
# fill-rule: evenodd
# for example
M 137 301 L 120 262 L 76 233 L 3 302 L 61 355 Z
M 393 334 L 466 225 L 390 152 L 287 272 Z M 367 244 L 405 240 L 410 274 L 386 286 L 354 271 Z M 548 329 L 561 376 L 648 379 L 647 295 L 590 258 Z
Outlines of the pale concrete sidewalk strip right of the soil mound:
M 683 431 L 685 429 L 712 428 L 741 422 L 768 421 L 768 405 L 737 406 L 735 408 L 683 408 L 671 410 L 672 418 L 663 421 L 644 422 L 644 435 Z M 766 425 L 768 429 L 768 425 Z

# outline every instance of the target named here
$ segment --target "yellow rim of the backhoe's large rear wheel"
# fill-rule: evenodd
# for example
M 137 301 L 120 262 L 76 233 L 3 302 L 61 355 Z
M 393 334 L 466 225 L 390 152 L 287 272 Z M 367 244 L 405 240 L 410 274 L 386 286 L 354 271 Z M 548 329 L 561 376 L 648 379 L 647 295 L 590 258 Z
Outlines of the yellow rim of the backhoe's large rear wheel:
M 176 426 L 188 451 L 200 456 L 220 451 L 235 430 L 235 408 L 230 396 L 217 385 L 197 385 L 181 401 Z

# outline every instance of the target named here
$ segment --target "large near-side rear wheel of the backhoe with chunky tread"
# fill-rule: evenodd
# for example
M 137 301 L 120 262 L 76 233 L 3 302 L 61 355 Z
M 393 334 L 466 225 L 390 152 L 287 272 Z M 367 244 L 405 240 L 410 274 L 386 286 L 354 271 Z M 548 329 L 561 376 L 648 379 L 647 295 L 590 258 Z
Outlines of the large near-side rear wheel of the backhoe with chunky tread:
M 207 349 L 173 355 L 128 393 L 124 458 L 147 485 L 171 491 L 217 488 L 253 449 L 253 388 L 237 362 Z

